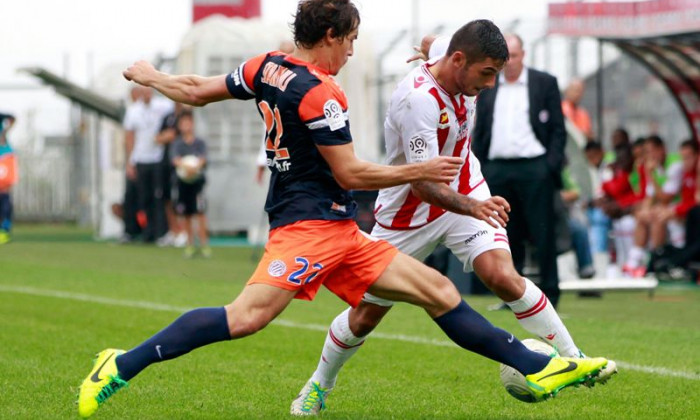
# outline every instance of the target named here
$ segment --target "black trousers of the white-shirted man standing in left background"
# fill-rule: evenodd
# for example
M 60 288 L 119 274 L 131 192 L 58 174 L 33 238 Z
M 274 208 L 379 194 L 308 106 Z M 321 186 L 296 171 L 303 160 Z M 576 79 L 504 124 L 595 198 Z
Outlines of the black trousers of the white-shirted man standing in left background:
M 153 242 L 167 232 L 163 203 L 163 168 L 160 162 L 136 164 L 139 210 L 146 213 L 144 242 Z

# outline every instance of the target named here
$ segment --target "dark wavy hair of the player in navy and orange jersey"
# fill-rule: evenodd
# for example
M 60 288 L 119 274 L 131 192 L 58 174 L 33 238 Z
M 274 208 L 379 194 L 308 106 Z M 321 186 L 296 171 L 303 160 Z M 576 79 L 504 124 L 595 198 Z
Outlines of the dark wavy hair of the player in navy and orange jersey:
M 350 0 L 302 0 L 294 15 L 294 43 L 313 48 L 326 36 L 343 39 L 360 24 L 360 12 Z

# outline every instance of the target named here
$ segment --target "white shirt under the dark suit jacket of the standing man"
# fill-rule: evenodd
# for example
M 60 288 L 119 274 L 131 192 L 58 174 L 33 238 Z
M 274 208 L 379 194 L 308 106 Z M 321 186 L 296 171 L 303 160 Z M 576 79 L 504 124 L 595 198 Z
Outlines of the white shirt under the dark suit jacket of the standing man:
M 546 152 L 530 125 L 527 68 L 523 68 L 514 83 L 508 83 L 501 73 L 493 110 L 489 159 L 534 158 Z

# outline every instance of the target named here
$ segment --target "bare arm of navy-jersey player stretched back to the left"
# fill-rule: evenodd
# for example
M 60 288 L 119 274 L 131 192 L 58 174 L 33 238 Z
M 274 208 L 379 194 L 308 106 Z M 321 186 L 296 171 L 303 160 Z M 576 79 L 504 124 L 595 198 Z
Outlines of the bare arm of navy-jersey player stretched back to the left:
M 147 61 L 137 61 L 124 70 L 126 80 L 152 87 L 175 102 L 204 106 L 211 102 L 231 99 L 226 88 L 226 75 L 203 77 L 171 75 L 160 72 Z

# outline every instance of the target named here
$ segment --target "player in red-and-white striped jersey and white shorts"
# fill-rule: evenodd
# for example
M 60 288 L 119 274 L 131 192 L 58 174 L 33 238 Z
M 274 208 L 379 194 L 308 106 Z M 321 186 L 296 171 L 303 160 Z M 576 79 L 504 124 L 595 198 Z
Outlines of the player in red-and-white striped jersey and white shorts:
M 445 245 L 464 264 L 465 272 L 474 270 L 512 309 L 523 328 L 562 355 L 582 358 L 544 293 L 515 270 L 504 229 L 510 206 L 503 198 L 491 196 L 479 161 L 471 153 L 476 95 L 494 86 L 508 59 L 506 41 L 486 20 L 466 24 L 449 42 L 433 41 L 423 43 L 423 55 L 429 50 L 436 57 L 411 71 L 392 94 L 384 122 L 386 163 L 455 156 L 464 164 L 450 183 L 418 181 L 380 190 L 372 236 L 418 260 L 437 245 Z M 336 317 L 316 371 L 292 402 L 292 414 L 312 415 L 322 409 L 318 390 L 324 397 L 330 392 L 343 364 L 392 305 L 367 293 L 357 308 Z M 610 362 L 598 380 L 606 381 L 615 372 L 615 363 Z

